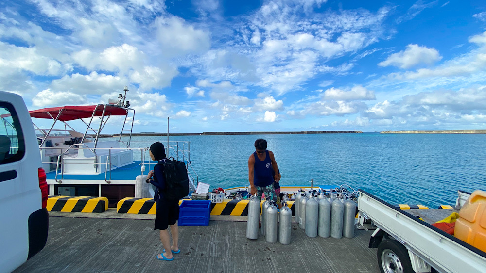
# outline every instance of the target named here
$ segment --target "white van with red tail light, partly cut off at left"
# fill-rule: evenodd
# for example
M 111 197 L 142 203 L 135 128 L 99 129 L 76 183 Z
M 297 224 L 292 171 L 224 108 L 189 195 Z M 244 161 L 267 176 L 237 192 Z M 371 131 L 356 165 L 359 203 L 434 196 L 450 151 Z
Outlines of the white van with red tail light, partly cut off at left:
M 11 272 L 46 245 L 48 186 L 21 96 L 0 91 L 0 120 L 0 272 Z

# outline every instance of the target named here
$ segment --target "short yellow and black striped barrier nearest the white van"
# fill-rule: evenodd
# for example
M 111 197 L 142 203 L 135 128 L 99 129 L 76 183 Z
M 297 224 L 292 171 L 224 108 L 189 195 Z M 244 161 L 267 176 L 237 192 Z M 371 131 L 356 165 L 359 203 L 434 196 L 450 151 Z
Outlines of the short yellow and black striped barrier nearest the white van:
M 49 196 L 48 211 L 104 212 L 108 209 L 108 198 L 91 196 Z

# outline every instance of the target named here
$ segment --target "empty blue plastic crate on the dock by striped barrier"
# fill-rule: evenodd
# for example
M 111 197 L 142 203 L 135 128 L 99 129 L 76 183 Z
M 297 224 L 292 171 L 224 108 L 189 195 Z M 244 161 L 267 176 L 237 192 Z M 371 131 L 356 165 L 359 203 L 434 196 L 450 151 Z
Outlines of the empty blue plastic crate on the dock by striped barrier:
M 178 225 L 209 225 L 210 200 L 183 200 L 179 210 Z

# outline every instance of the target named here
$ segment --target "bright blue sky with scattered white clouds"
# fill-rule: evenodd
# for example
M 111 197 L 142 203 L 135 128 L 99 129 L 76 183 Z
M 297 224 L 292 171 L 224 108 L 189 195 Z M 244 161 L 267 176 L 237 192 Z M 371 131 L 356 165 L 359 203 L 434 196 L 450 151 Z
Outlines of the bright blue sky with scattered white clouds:
M 137 132 L 484 129 L 486 2 L 0 2 L 30 110 L 125 85 Z

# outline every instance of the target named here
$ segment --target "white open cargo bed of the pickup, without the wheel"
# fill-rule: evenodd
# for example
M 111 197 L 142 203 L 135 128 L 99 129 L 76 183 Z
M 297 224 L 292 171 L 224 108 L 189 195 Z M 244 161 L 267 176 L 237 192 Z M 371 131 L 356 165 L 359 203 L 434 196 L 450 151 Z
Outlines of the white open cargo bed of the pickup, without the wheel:
M 486 272 L 485 252 L 430 225 L 457 209 L 401 210 L 363 190 L 359 190 L 359 194 L 360 223 L 363 219 L 371 219 L 388 237 L 406 247 L 414 258 L 412 263 L 420 265 L 421 270 L 427 269 L 421 265 L 428 264 L 438 272 Z

